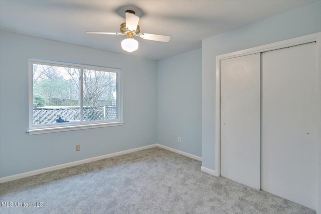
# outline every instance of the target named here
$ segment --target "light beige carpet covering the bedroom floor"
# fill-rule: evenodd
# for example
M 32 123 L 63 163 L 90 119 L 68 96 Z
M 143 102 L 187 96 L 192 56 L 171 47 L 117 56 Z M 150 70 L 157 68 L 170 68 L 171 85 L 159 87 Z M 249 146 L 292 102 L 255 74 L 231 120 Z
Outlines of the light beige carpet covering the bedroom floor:
M 158 147 L 0 184 L 1 213 L 315 213 Z

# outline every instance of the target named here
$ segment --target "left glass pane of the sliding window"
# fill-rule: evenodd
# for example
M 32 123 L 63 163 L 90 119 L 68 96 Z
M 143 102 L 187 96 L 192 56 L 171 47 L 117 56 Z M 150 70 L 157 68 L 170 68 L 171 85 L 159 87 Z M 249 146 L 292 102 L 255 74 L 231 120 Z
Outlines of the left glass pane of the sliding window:
M 33 64 L 33 124 L 80 121 L 80 69 Z

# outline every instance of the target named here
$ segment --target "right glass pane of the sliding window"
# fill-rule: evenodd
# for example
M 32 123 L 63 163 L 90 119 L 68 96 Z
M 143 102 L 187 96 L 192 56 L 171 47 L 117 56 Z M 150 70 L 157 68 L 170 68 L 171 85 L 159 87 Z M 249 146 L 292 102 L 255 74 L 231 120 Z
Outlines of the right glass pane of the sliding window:
M 83 120 L 118 119 L 117 73 L 83 70 Z

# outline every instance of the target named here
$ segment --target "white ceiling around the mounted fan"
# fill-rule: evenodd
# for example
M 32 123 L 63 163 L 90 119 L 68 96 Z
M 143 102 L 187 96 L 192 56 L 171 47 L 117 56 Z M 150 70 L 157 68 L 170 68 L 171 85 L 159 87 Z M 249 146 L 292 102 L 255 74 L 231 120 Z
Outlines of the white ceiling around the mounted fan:
M 202 47 L 202 39 L 262 20 L 315 0 L 279 1 L 13 1 L 0 0 L 0 29 L 110 52 L 159 60 Z M 128 7 L 127 7 L 128 6 Z M 141 9 L 143 33 L 170 35 L 169 43 L 138 40 L 127 53 L 125 36 L 91 35 L 85 31 L 119 32 L 119 13 Z M 120 16 L 121 15 L 121 16 Z M 138 38 L 137 38 L 138 39 Z

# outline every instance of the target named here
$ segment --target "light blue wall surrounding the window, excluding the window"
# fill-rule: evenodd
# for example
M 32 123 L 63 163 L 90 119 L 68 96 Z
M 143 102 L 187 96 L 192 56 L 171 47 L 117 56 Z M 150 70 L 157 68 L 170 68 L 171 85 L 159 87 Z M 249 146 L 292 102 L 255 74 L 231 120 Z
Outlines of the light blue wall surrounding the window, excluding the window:
M 0 177 L 156 142 L 156 61 L 4 31 L 0 47 Z M 121 68 L 125 124 L 27 134 L 28 57 Z

